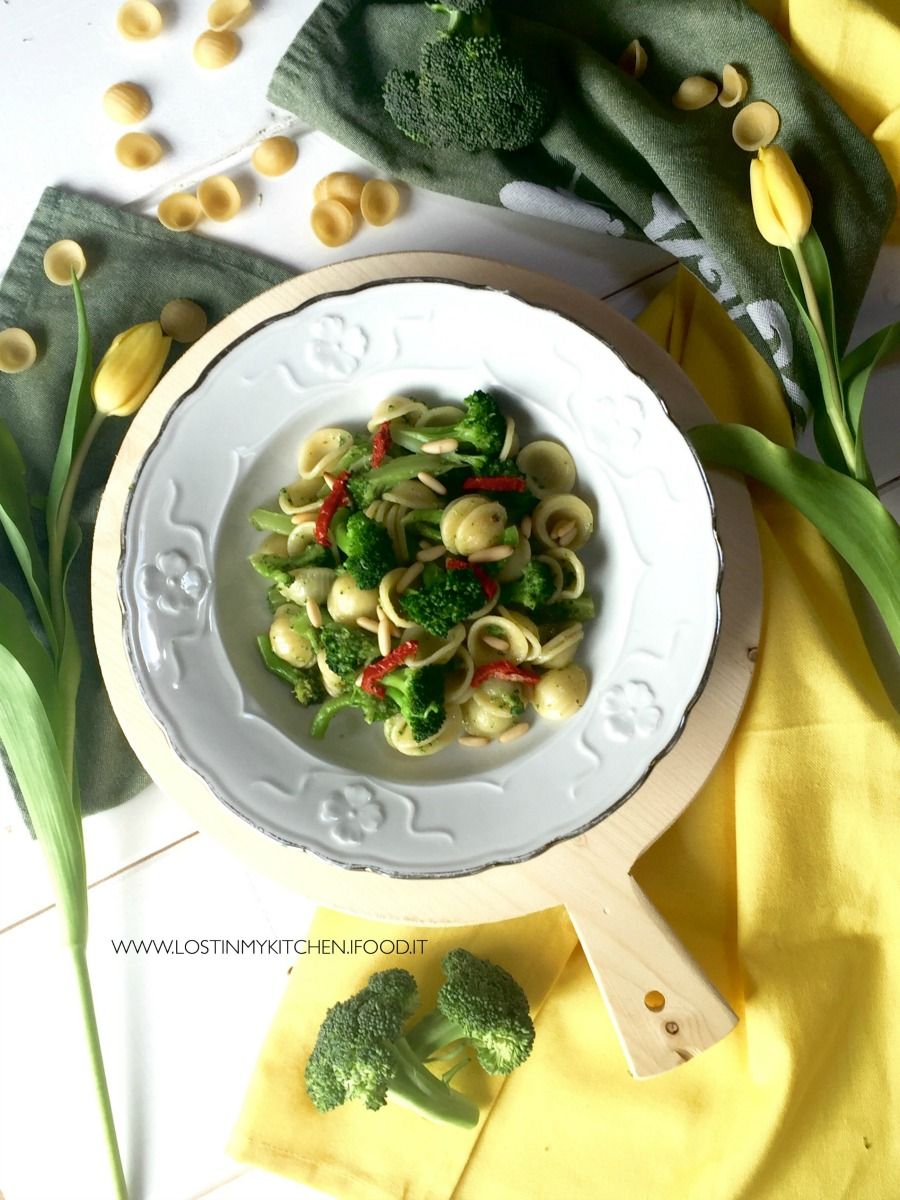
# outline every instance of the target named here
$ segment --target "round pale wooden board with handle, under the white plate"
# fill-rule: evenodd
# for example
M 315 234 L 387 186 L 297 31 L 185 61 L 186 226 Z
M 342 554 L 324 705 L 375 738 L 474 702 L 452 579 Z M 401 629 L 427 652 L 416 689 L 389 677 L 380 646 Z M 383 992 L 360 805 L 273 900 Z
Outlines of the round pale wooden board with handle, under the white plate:
M 565 904 L 632 1073 L 656 1074 L 712 1045 L 736 1021 L 629 872 L 715 766 L 750 684 L 748 652 L 758 642 L 762 583 L 750 500 L 738 479 L 721 472 L 709 475 L 726 563 L 721 632 L 709 680 L 682 737 L 625 804 L 587 834 L 524 863 L 461 878 L 413 881 L 342 870 L 282 846 L 228 811 L 175 755 L 131 674 L 116 593 L 122 514 L 140 461 L 172 404 L 211 359 L 262 322 L 316 295 L 407 277 L 485 284 L 554 308 L 611 342 L 665 398 L 679 426 L 712 420 L 664 350 L 602 301 L 548 276 L 490 259 L 401 253 L 340 263 L 289 280 L 232 313 L 187 350 L 134 418 L 115 461 L 97 517 L 92 560 L 94 629 L 113 708 L 154 780 L 188 809 L 202 829 L 263 874 L 320 904 L 410 924 L 500 920 Z M 646 1003 L 652 991 L 665 997 L 661 1012 Z

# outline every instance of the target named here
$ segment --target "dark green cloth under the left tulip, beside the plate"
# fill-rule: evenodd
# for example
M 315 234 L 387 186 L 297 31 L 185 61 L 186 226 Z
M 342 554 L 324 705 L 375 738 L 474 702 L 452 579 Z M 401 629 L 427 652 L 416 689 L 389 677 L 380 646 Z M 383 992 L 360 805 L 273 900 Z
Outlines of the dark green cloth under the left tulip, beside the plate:
M 28 463 L 32 494 L 41 494 L 49 481 L 74 364 L 72 293 L 50 283 L 42 268 L 44 250 L 60 238 L 73 238 L 88 257 L 82 287 L 95 359 L 124 329 L 158 317 L 168 300 L 196 300 L 214 324 L 292 274 L 221 242 L 169 233 L 156 221 L 48 188 L 0 286 L 0 329 L 23 326 L 40 352 L 30 371 L 0 374 L 0 416 Z M 78 696 L 78 772 L 86 812 L 112 808 L 148 782 L 109 707 L 94 652 L 89 607 L 94 521 L 127 427 L 127 421 L 103 424 L 82 476 L 74 512 L 88 541 L 70 577 L 72 612 L 84 653 Z M 35 523 L 40 532 L 41 522 Z M 29 607 L 26 589 L 2 534 L 0 582 Z

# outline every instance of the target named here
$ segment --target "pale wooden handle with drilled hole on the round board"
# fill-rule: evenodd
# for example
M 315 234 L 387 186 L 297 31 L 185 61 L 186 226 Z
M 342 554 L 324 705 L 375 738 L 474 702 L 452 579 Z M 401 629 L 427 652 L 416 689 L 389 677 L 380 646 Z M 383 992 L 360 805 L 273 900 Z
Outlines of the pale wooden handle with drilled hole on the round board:
M 595 896 L 566 906 L 632 1075 L 680 1067 L 734 1028 L 734 1013 L 630 875 Z

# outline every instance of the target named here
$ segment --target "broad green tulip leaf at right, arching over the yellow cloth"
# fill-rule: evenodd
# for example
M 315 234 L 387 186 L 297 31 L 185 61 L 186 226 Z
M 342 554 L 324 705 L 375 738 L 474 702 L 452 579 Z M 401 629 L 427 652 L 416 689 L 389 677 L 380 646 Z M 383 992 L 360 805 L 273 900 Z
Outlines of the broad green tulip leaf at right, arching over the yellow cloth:
M 812 522 L 859 576 L 900 650 L 900 526 L 878 498 L 745 425 L 698 425 L 688 437 L 704 466 L 750 475 Z

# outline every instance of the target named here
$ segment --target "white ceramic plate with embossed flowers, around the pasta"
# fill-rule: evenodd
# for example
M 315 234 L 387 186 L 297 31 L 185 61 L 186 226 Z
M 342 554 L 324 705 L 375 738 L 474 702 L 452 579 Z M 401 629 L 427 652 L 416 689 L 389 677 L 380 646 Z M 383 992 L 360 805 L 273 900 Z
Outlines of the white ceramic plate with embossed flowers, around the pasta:
M 391 392 L 493 391 L 522 440 L 557 438 L 596 515 L 600 616 L 572 720 L 434 757 L 379 726 L 311 712 L 262 666 L 269 620 L 247 514 L 295 478 L 301 437 L 361 428 Z M 462 875 L 528 858 L 626 799 L 678 737 L 708 676 L 721 553 L 697 460 L 613 347 L 506 293 L 434 280 L 320 296 L 234 343 L 172 409 L 125 515 L 119 587 L 138 686 L 173 749 L 253 826 L 335 863 Z

